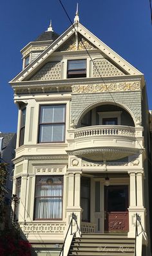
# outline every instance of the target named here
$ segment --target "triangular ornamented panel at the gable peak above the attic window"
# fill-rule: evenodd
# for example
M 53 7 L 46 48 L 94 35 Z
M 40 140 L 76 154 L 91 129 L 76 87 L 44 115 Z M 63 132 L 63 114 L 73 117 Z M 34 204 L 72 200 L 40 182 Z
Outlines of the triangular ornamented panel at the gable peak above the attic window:
M 78 43 L 76 41 L 78 40 Z M 90 41 L 83 38 L 81 35 L 76 39 L 75 36 L 72 36 L 69 40 L 66 41 L 57 51 L 77 51 L 77 50 L 93 50 L 97 49 L 95 45 L 91 44 Z

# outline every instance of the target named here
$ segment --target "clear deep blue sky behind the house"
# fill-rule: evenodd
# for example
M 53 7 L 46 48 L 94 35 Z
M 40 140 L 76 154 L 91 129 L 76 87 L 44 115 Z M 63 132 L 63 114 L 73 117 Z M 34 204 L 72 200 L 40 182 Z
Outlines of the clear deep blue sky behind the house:
M 71 20 L 76 0 L 62 0 Z M 152 26 L 149 0 L 78 0 L 80 22 L 145 75 L 152 109 Z M 22 69 L 20 50 L 49 26 L 62 34 L 70 21 L 58 0 L 7 0 L 0 5 L 1 132 L 16 132 L 17 107 L 8 81 Z

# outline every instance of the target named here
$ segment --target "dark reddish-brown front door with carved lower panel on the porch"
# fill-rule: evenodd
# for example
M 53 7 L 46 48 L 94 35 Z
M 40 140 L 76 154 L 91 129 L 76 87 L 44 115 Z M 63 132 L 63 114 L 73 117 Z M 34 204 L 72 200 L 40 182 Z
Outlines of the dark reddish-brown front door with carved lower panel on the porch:
M 104 189 L 106 232 L 127 232 L 128 220 L 128 185 L 109 186 Z

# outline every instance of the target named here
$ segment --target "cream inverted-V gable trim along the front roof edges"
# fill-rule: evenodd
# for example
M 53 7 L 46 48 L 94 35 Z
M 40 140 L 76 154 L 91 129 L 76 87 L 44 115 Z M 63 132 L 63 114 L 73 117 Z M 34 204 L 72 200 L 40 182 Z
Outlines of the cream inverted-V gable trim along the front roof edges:
M 129 64 L 126 60 L 124 60 L 122 57 L 119 56 L 116 52 L 114 52 L 112 49 L 110 49 L 105 43 L 99 40 L 96 36 L 94 36 L 88 29 L 86 29 L 81 23 L 75 22 L 71 27 L 69 27 L 57 40 L 53 41 L 53 43 L 31 64 L 29 64 L 19 75 L 15 76 L 15 78 L 10 82 L 10 84 L 17 82 L 21 82 L 23 80 L 26 80 L 26 77 L 29 76 L 30 74 L 33 74 L 33 71 L 37 70 L 39 67 L 43 65 L 43 62 L 47 60 L 48 57 L 54 52 L 57 51 L 63 45 L 66 40 L 68 40 L 72 34 L 75 34 L 75 30 L 79 32 L 86 40 L 90 41 L 91 44 L 95 45 L 97 49 L 101 51 L 105 58 L 111 59 L 111 62 L 113 64 L 116 64 L 119 66 L 121 69 L 126 71 L 128 75 L 143 75 L 138 71 L 135 67 L 133 67 L 131 64 Z

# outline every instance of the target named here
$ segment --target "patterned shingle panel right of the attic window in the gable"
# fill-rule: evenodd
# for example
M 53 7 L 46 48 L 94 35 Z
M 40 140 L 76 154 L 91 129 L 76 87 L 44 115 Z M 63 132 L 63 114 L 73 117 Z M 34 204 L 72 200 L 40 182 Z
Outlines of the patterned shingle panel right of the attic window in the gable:
M 93 77 L 120 75 L 124 75 L 124 73 L 108 62 L 108 60 L 95 60 L 93 62 Z

